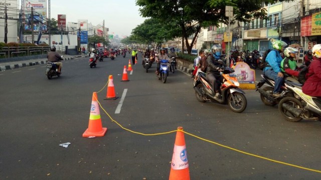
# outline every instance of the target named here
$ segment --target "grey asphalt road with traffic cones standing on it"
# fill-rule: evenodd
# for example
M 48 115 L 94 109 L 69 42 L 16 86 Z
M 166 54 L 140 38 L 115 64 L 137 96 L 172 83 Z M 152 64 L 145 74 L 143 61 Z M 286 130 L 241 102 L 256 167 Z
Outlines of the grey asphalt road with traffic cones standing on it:
M 48 80 L 45 65 L 0 72 L 0 179 L 168 179 L 176 133 L 141 135 L 122 129 L 100 108 L 103 137 L 85 138 L 92 93 L 113 75 L 116 100 L 98 100 L 123 127 L 153 134 L 184 130 L 241 151 L 311 169 L 321 169 L 319 121 L 289 122 L 277 106 L 245 90 L 242 113 L 201 103 L 182 71 L 164 84 L 153 64 L 139 64 L 122 82 L 128 57 L 105 58 L 89 68 L 87 58 L 65 61 L 62 75 Z M 260 72 L 256 72 L 257 80 Z M 126 96 L 115 113 L 124 89 Z M 191 179 L 321 179 L 321 174 L 244 154 L 185 134 Z M 59 144 L 71 142 L 67 147 Z

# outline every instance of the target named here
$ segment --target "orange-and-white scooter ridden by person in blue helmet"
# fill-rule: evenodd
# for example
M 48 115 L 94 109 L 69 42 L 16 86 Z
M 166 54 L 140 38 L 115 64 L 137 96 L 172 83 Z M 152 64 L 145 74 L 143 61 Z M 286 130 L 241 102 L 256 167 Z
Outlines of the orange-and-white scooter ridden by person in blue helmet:
M 222 77 L 223 83 L 220 87 L 221 97 L 215 98 L 215 92 L 213 92 L 213 86 L 211 82 L 206 78 L 204 72 L 198 72 L 194 78 L 195 95 L 198 101 L 206 102 L 213 101 L 221 104 L 228 104 L 230 109 L 234 112 L 243 112 L 247 106 L 247 100 L 245 92 L 240 89 L 240 85 L 237 80 L 237 75 L 233 74 L 233 69 L 230 67 L 224 67 L 222 63 Z

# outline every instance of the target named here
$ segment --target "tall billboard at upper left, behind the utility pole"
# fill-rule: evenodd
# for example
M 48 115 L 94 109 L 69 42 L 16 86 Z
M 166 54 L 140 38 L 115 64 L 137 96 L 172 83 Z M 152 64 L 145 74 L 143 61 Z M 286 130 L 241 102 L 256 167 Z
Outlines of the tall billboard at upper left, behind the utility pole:
M 31 7 L 34 10 L 34 19 L 31 17 Z M 24 0 L 25 9 L 25 30 L 32 28 L 34 20 L 34 31 L 47 31 L 47 0 Z

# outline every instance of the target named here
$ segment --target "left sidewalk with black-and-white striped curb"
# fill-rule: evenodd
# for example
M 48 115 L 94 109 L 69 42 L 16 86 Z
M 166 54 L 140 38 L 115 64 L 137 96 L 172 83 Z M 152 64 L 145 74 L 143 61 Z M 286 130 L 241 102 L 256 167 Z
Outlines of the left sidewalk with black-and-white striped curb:
M 88 55 L 63 54 L 64 60 L 71 60 L 71 59 L 80 58 L 80 57 L 88 57 Z M 47 58 L 37 58 L 37 59 L 28 59 L 28 60 L 21 60 L 21 61 L 0 62 L 0 71 L 38 65 L 38 64 L 45 64 L 46 61 L 47 61 Z

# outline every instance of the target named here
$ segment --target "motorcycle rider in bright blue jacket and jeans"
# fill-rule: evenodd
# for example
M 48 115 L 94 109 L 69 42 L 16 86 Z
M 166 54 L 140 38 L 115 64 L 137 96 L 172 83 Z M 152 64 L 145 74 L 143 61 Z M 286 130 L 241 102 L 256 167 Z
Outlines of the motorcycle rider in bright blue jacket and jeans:
M 264 68 L 263 72 L 264 74 L 271 78 L 274 79 L 274 90 L 273 90 L 273 96 L 274 97 L 279 97 L 281 96 L 280 94 L 280 89 L 281 85 L 283 83 L 283 73 L 281 71 L 281 61 L 283 58 L 280 55 L 280 52 L 283 52 L 284 47 L 287 45 L 282 40 L 272 40 L 272 47 L 273 50 L 271 50 L 267 56 L 265 61 L 267 62 L 266 67 Z

